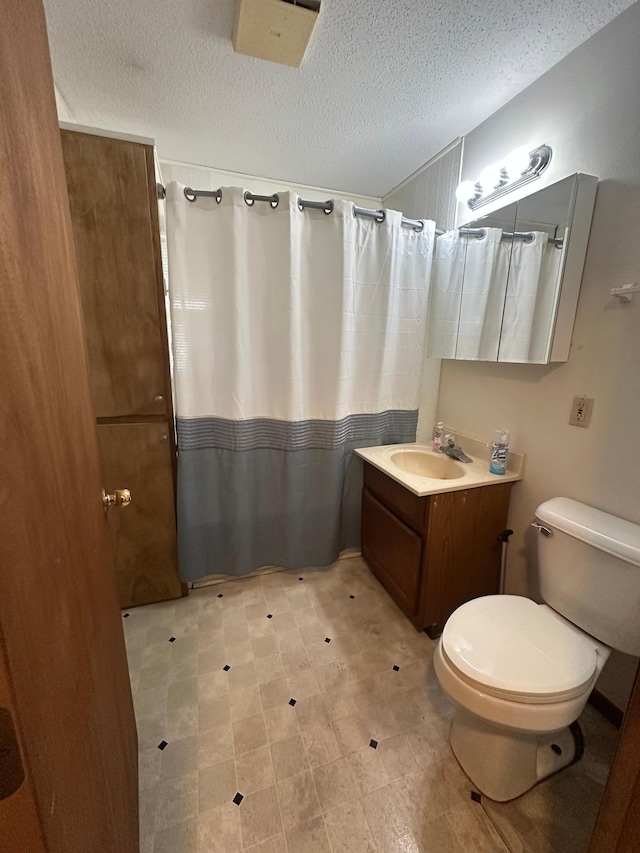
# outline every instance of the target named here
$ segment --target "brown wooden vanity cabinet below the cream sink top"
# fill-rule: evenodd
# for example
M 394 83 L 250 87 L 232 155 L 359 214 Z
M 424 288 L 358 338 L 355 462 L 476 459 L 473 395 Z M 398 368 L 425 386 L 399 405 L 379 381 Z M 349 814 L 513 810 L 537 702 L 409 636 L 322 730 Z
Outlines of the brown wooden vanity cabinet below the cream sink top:
M 418 497 L 364 463 L 362 556 L 416 628 L 497 593 L 511 483 Z

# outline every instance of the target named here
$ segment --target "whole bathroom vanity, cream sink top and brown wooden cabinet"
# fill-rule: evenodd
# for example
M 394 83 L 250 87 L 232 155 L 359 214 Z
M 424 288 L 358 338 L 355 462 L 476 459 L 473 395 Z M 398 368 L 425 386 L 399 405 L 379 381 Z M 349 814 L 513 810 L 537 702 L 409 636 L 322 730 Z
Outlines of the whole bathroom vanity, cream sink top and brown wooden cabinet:
M 465 465 L 428 445 L 356 453 L 364 460 L 362 556 L 415 627 L 436 636 L 465 601 L 498 592 L 497 537 L 522 455 L 510 454 L 507 474 L 498 476 L 477 455 Z M 424 476 L 425 465 L 437 476 Z

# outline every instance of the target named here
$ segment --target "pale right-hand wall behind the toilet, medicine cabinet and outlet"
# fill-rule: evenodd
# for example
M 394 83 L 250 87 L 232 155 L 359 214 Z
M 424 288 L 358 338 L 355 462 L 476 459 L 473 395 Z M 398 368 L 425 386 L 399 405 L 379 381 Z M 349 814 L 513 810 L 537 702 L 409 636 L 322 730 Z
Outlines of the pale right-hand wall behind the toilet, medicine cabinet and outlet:
M 576 171 L 600 178 L 568 363 L 443 362 L 439 418 L 485 441 L 511 429 L 527 454 L 511 502 L 509 592 L 536 594 L 529 524 L 541 501 L 566 495 L 640 523 L 640 297 L 609 296 L 640 283 L 639 45 L 636 3 L 465 139 L 463 179 L 529 143 L 553 148 L 531 191 Z M 595 397 L 586 430 L 568 424 L 578 394 Z M 598 685 L 619 707 L 636 663 L 613 656 Z

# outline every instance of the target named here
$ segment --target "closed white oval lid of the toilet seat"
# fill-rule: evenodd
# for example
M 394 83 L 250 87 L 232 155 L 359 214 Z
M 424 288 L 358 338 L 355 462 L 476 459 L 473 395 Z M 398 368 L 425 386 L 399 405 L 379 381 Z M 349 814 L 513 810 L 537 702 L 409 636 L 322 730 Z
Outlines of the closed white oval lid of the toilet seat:
M 547 605 L 517 595 L 487 595 L 463 604 L 449 617 L 442 646 L 464 676 L 492 693 L 573 693 L 596 670 L 596 640 Z

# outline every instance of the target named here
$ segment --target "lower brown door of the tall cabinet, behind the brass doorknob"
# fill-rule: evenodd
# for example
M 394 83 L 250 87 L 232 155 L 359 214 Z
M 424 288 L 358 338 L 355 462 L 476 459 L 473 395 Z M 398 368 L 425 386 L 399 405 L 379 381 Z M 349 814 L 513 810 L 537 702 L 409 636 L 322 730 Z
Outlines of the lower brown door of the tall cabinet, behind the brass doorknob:
M 109 510 L 122 607 L 182 595 L 169 429 L 166 422 L 98 425 L 104 486 L 130 489 L 132 497 L 130 506 Z

